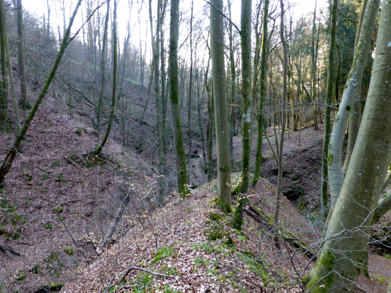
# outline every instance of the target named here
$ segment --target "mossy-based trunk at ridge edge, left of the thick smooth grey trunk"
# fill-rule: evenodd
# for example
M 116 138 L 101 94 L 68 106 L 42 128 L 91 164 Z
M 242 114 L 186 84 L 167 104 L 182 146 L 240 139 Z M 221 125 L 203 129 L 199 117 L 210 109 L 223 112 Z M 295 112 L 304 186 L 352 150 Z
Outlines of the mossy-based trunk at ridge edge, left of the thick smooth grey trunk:
M 173 121 L 174 146 L 176 154 L 176 172 L 178 191 L 181 196 L 189 193 L 187 187 L 186 153 L 183 144 L 182 124 L 180 121 L 179 88 L 178 88 L 178 33 L 179 33 L 179 0 L 171 1 L 170 10 L 170 55 L 169 55 L 169 86 L 171 115 Z

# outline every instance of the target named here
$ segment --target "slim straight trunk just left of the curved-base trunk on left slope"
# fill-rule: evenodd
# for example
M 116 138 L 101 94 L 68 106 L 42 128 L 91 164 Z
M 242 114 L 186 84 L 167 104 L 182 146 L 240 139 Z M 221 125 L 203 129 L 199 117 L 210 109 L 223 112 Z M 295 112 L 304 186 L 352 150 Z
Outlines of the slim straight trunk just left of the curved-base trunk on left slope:
M 103 29 L 103 41 L 102 41 L 102 52 L 101 52 L 101 91 L 99 94 L 98 115 L 97 115 L 97 122 L 96 122 L 96 130 L 98 131 L 98 133 L 101 133 L 103 97 L 105 95 L 105 90 L 106 90 L 106 46 L 107 46 L 107 31 L 109 26 L 109 13 L 110 13 L 110 0 L 107 1 L 105 28 Z

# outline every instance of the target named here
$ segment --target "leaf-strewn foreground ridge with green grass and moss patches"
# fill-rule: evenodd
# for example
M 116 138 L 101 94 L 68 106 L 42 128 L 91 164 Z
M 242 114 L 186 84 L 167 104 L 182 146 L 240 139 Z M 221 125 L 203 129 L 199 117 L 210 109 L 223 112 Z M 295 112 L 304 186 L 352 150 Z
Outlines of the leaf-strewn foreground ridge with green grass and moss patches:
M 145 215 L 62 292 L 300 292 L 299 286 L 289 285 L 294 280 L 290 267 L 300 270 L 308 259 L 288 244 L 276 251 L 270 227 L 248 216 L 242 233 L 233 230 L 213 204 L 215 190 L 214 181 L 190 198 Z M 261 179 L 250 198 L 271 212 L 273 193 L 271 184 Z M 283 211 L 289 230 L 309 240 L 309 223 L 304 227 L 288 201 Z

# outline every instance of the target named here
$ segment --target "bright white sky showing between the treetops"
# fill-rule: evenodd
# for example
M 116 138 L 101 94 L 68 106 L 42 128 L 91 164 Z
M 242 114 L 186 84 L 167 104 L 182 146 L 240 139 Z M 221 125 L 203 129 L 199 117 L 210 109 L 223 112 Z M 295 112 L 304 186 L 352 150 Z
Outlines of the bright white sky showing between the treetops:
M 73 3 L 72 5 L 72 11 L 74 9 L 75 3 L 77 0 L 71 0 L 71 1 L 65 1 L 66 5 L 69 5 L 70 3 Z M 103 0 L 99 0 L 99 2 L 102 2 Z M 129 19 L 129 1 L 130 0 L 117 0 L 118 2 L 118 29 L 119 29 L 119 42 L 123 43 L 123 40 L 125 38 L 125 31 L 126 31 L 126 26 L 127 26 L 127 21 Z M 60 26 L 62 27 L 62 15 L 61 12 L 58 8 L 58 16 L 56 16 L 56 11 L 55 11 L 55 2 L 57 0 L 49 0 L 49 3 L 51 3 L 51 12 L 50 12 L 50 21 L 52 23 L 52 27 L 55 28 L 56 30 L 56 35 L 57 35 L 57 21 L 60 21 Z M 111 1 L 113 2 L 113 1 Z M 132 6 L 132 12 L 130 15 L 130 27 L 134 26 L 132 36 L 131 36 L 131 41 L 135 44 L 139 44 L 139 30 L 138 30 L 138 7 L 139 3 L 141 3 L 141 0 L 133 0 L 133 6 Z M 156 7 L 156 2 L 157 0 L 152 0 L 152 6 Z M 224 1 L 226 2 L 226 1 Z M 256 5 L 258 1 L 253 0 L 253 6 Z M 276 0 L 271 0 L 271 3 L 277 2 Z M 291 10 L 291 13 L 293 12 L 293 17 L 294 18 L 299 18 L 302 15 L 306 15 L 308 13 L 312 13 L 315 7 L 315 0 L 284 0 L 286 3 L 285 5 L 287 6 L 287 3 L 289 2 L 291 5 L 294 5 L 294 8 Z M 58 3 L 58 2 L 57 2 Z M 46 0 L 22 0 L 23 7 L 27 10 L 29 10 L 32 13 L 35 13 L 38 17 L 43 17 L 43 11 L 45 11 L 45 17 L 47 18 L 47 8 L 46 8 Z M 154 4 L 154 5 L 153 5 Z M 112 4 L 111 4 L 112 5 Z M 197 15 L 203 13 L 203 6 L 208 5 L 204 0 L 194 0 L 194 14 L 195 17 Z M 327 0 L 317 0 L 317 10 L 319 8 L 325 8 L 327 6 Z M 183 11 L 187 11 L 186 17 L 190 17 L 190 0 L 184 0 L 181 1 L 181 7 L 183 8 Z M 86 8 L 85 8 L 85 1 L 82 2 L 82 9 L 83 13 L 86 13 Z M 104 5 L 102 8 L 102 15 L 106 13 L 106 5 Z M 167 13 L 166 13 L 166 23 L 168 23 L 168 19 L 170 17 L 169 14 L 169 9 L 170 7 L 167 7 Z M 278 7 L 278 10 L 280 8 Z M 254 9 L 255 11 L 255 9 Z M 71 14 L 70 9 L 68 8 L 67 11 L 67 16 L 69 17 Z M 154 16 L 156 13 L 152 12 L 152 15 Z M 140 26 L 141 26 L 141 39 L 143 41 L 143 46 L 144 46 L 144 39 L 146 38 L 146 33 L 147 35 L 147 51 L 149 51 L 151 48 L 151 37 L 150 37 L 150 26 L 149 26 L 149 15 L 148 15 L 148 0 L 143 0 L 143 8 L 142 12 L 140 13 Z M 86 17 L 84 16 L 84 19 Z M 235 22 L 238 26 L 240 26 L 240 0 L 232 0 L 232 19 L 233 22 Z M 76 29 L 81 26 L 81 18 L 80 18 L 80 11 L 78 13 L 78 19 L 76 19 L 74 23 L 74 28 Z M 166 36 L 165 38 L 168 39 L 168 25 L 166 27 Z M 179 41 L 180 42 L 180 41 Z

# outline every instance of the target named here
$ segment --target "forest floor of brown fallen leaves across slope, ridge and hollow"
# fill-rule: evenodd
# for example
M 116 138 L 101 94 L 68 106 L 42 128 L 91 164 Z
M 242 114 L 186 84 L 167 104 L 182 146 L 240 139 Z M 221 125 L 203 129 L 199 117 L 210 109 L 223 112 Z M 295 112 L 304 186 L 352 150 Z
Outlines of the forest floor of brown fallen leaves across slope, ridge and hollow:
M 273 244 L 269 216 L 277 165 L 266 139 L 262 178 L 249 190 L 259 214 L 247 211 L 239 232 L 213 204 L 216 181 L 153 211 L 153 167 L 135 150 L 114 142 L 106 145 L 100 161 L 88 159 L 100 138 L 91 127 L 68 120 L 54 103 L 48 98 L 37 113 L 0 194 L 0 242 L 23 254 L 0 254 L 0 292 L 54 292 L 62 287 L 57 284 L 65 284 L 66 293 L 301 292 L 292 282 L 309 272 L 312 261 L 288 238 L 282 238 L 279 250 Z M 273 128 L 267 135 L 276 151 Z M 307 124 L 301 133 L 285 135 L 281 230 L 302 239 L 307 251 L 316 251 L 322 238 L 322 139 L 321 124 L 318 131 Z M 1 136 L 0 153 L 12 141 L 12 134 Z M 256 142 L 254 137 L 253 160 Z M 239 172 L 240 135 L 234 138 L 234 156 Z M 205 180 L 201 159 L 192 161 L 199 182 Z M 239 173 L 233 182 L 239 183 Z M 130 204 L 117 227 L 117 241 L 102 253 L 101 240 L 127 194 Z M 386 292 L 387 255 L 369 251 L 370 279 L 362 276 L 357 290 Z

